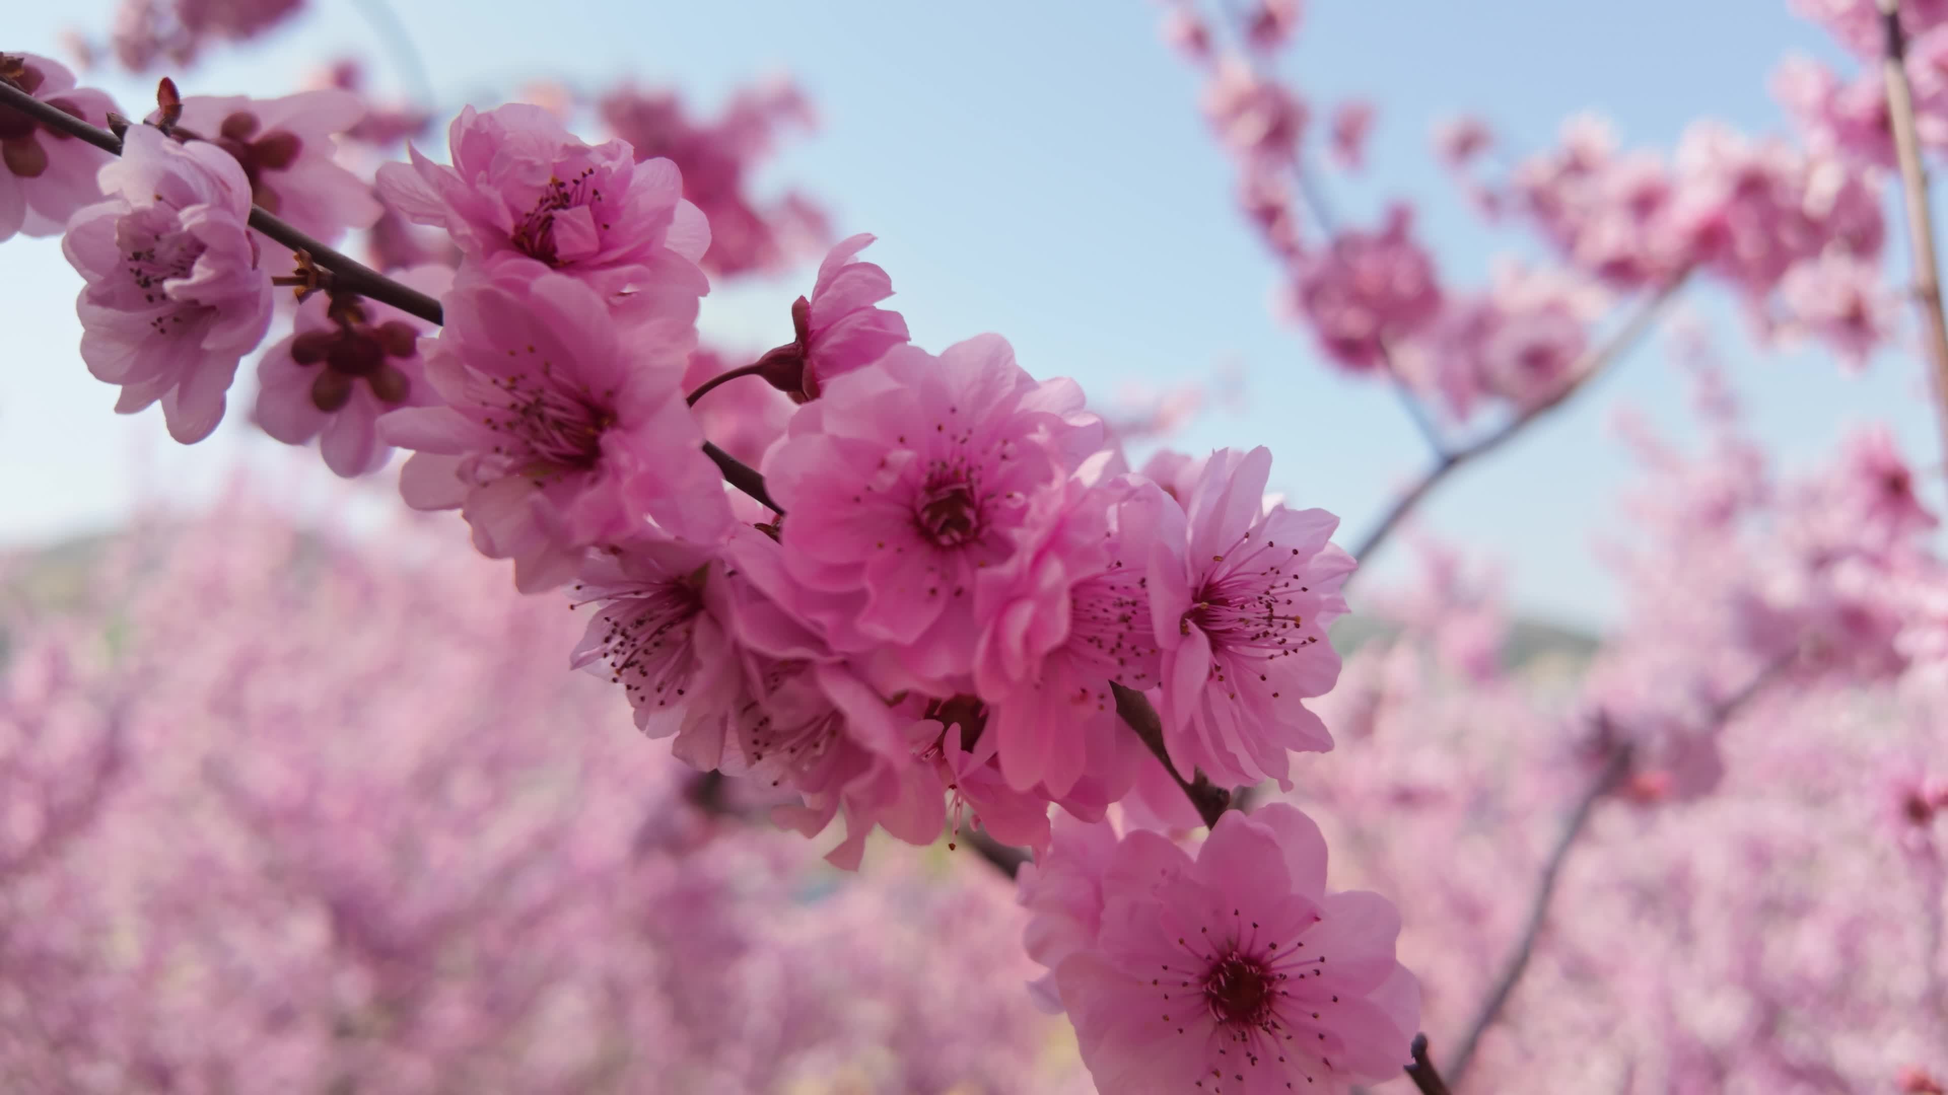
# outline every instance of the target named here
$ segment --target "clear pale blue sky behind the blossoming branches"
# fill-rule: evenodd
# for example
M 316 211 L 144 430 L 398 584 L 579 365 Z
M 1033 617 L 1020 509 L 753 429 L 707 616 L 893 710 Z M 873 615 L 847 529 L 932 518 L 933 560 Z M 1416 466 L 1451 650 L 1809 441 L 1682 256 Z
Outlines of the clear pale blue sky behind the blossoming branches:
M 393 0 L 442 109 L 493 105 L 532 78 L 598 90 L 629 76 L 674 84 L 697 105 L 787 70 L 822 129 L 783 148 L 760 189 L 818 197 L 840 236 L 875 232 L 916 339 L 939 349 L 1001 331 L 1038 376 L 1081 380 L 1099 403 L 1124 386 L 1167 388 L 1245 368 L 1245 399 L 1192 423 L 1190 450 L 1268 444 L 1272 487 L 1327 507 L 1356 536 L 1424 460 L 1393 397 L 1330 374 L 1307 335 L 1268 310 L 1272 263 L 1233 210 L 1233 171 L 1198 113 L 1190 70 L 1157 39 L 1138 0 L 732 2 Z M 68 27 L 99 29 L 109 0 L 12 4 L 0 49 L 58 53 Z M 247 51 L 183 74 L 185 94 L 292 90 L 327 57 L 356 55 L 380 80 L 390 58 L 360 4 L 312 14 Z M 1767 80 L 1786 51 L 1833 57 L 1784 0 L 1311 0 L 1284 62 L 1321 103 L 1379 105 L 1369 168 L 1327 171 L 1342 218 L 1393 197 L 1420 205 L 1422 234 L 1455 286 L 1480 284 L 1492 255 L 1525 247 L 1475 222 L 1428 156 L 1432 121 L 1467 109 L 1517 150 L 1553 140 L 1562 117 L 1609 115 L 1629 144 L 1671 146 L 1699 115 L 1743 131 L 1784 125 Z M 99 80 L 131 113 L 125 80 Z M 444 144 L 429 148 L 442 156 Z M 1895 210 L 1890 207 L 1890 216 Z M 1897 228 L 1899 222 L 1895 220 Z M 1899 240 L 1899 232 L 1895 232 Z M 1905 265 L 1897 242 L 1890 259 Z M 80 284 L 55 242 L 0 249 L 0 542 L 103 528 L 140 497 L 197 499 L 240 466 L 279 468 L 282 446 L 232 421 L 181 450 L 158 411 L 111 413 L 115 390 L 76 355 Z M 727 347 L 785 341 L 785 306 L 808 271 L 705 300 Z M 1925 464 L 1938 442 L 1911 355 L 1882 355 L 1862 378 L 1819 353 L 1751 347 L 1724 300 L 1687 308 L 1722 333 L 1757 433 L 1788 466 L 1829 452 L 1849 423 L 1890 419 Z M 1576 405 L 1467 470 L 1424 509 L 1424 526 L 1500 559 L 1523 610 L 1584 623 L 1617 612 L 1590 546 L 1627 532 L 1611 512 L 1630 464 L 1607 431 L 1621 403 L 1689 433 L 1667 343 L 1646 343 Z M 249 362 L 245 362 L 245 374 Z M 306 458 L 318 464 L 316 456 Z M 318 466 L 323 475 L 323 468 Z M 1938 477 L 1936 477 L 1938 487 Z M 1381 569 L 1399 567 L 1397 544 Z

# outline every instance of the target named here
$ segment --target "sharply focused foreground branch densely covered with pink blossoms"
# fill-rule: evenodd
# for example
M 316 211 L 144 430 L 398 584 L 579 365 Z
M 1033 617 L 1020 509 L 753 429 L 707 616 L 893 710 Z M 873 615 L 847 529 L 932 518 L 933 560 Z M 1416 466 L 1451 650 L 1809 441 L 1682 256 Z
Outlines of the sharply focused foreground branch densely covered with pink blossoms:
M 573 586 L 592 616 L 573 662 L 680 760 L 789 789 L 773 816 L 808 836 L 843 814 L 840 867 L 877 828 L 927 844 L 964 824 L 1058 863 L 1050 807 L 1120 842 L 1108 807 L 1161 774 L 1212 836 L 1198 865 L 1155 865 L 1145 916 L 1182 924 L 1219 877 L 1231 896 L 1177 959 L 1202 1001 L 1165 1015 L 1190 1046 L 1182 1079 L 1223 1038 L 1258 1044 L 1231 1068 L 1268 1079 L 1383 1079 L 1406 1060 L 1418 990 L 1375 931 L 1393 906 L 1329 894 L 1295 809 L 1225 809 L 1223 787 L 1284 781 L 1293 750 L 1330 746 L 1305 699 L 1336 672 L 1325 629 L 1354 569 L 1332 514 L 1264 505 L 1264 448 L 1219 450 L 1171 491 L 1108 473 L 1122 456 L 1073 382 L 1036 382 L 995 335 L 914 347 L 879 306 L 888 275 L 859 259 L 871 236 L 826 255 L 791 341 L 692 380 L 709 220 L 674 164 L 534 107 L 462 111 L 452 166 L 380 166 L 386 207 L 460 253 L 458 271 L 388 279 L 325 244 L 341 208 L 306 201 L 339 181 L 306 162 L 327 136 L 166 82 L 117 138 L 70 117 L 51 72 L 19 58 L 0 109 L 29 138 L 121 156 L 99 193 L 60 195 L 82 197 L 64 242 L 88 281 L 82 357 L 121 384 L 117 409 L 160 401 L 179 440 L 206 436 L 273 286 L 298 288 L 294 333 L 259 366 L 263 427 L 321 436 L 341 475 L 415 450 L 407 505 L 458 509 L 522 592 Z M 265 271 L 251 232 L 292 247 L 296 273 Z M 762 468 L 701 434 L 695 409 L 732 380 L 797 407 Z M 1163 840 L 1126 836 L 1132 855 Z M 1069 955 L 1087 974 L 1058 970 L 1105 1077 L 1136 1050 L 1101 1007 L 1147 970 L 1126 951 L 1101 939 Z M 1276 988 L 1292 978 L 1309 992 Z

